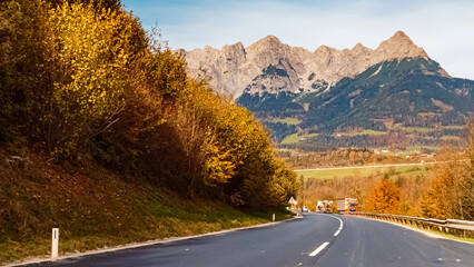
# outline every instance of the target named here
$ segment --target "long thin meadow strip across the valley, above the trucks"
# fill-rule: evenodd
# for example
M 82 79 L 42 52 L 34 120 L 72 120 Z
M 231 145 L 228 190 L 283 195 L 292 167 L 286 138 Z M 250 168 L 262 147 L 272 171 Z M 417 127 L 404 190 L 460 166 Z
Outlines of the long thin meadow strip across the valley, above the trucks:
M 416 176 L 422 175 L 426 171 L 423 166 L 397 166 L 397 167 L 364 167 L 364 168 L 345 168 L 345 169 L 318 169 L 318 170 L 306 170 L 297 171 L 297 176 L 303 176 L 305 180 L 309 178 L 316 179 L 332 179 L 335 177 L 367 177 L 371 175 L 379 175 L 389 172 L 395 169 L 394 175 L 404 175 L 404 176 Z

